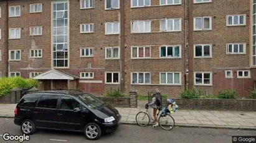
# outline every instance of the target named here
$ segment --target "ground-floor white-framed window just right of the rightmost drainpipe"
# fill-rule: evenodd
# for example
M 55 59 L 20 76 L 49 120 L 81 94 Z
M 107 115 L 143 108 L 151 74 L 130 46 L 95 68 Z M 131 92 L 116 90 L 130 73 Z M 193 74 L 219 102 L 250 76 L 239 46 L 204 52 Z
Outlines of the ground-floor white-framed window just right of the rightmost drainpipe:
M 195 85 L 212 85 L 211 72 L 195 72 Z

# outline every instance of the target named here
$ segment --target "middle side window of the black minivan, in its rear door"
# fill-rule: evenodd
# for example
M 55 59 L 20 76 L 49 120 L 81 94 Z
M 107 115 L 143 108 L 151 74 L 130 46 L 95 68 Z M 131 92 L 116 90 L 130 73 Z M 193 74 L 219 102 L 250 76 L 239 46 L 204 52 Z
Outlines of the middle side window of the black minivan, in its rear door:
M 52 108 L 55 109 L 57 107 L 58 97 L 54 95 L 42 95 L 40 98 L 37 107 L 39 108 Z

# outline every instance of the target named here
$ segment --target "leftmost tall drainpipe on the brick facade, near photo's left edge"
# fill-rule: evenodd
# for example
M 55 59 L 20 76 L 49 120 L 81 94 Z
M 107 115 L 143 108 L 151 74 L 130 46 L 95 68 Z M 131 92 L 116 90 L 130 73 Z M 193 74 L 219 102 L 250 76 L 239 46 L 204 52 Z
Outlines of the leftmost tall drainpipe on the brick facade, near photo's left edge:
M 5 3 L 5 17 L 3 17 L 3 18 L 5 18 L 5 20 L 4 20 L 4 52 L 3 52 L 3 54 L 4 54 L 4 76 L 5 77 L 8 77 L 8 71 L 9 71 L 9 48 L 8 48 L 8 38 L 9 38 L 9 25 L 8 25 L 8 23 L 9 23 L 9 17 L 8 17 L 8 15 L 9 15 L 9 11 L 8 11 L 8 9 L 9 9 L 9 4 L 8 4 L 8 1 L 5 1 L 4 2 Z

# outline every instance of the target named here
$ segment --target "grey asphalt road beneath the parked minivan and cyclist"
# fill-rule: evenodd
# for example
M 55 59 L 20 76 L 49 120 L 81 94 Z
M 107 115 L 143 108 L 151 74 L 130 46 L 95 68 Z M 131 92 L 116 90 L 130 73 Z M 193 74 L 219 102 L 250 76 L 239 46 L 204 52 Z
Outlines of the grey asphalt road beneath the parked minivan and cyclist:
M 4 141 L 2 134 L 8 132 L 11 135 L 21 134 L 21 128 L 13 123 L 13 119 L 0 118 L 0 142 Z M 121 124 L 110 134 L 103 135 L 97 141 L 88 141 L 82 132 L 51 131 L 40 129 L 30 136 L 29 141 L 24 142 L 232 142 L 231 136 L 256 136 L 256 131 L 239 131 L 232 129 L 206 129 L 206 128 L 179 128 L 164 131 L 160 127 L 140 127 Z

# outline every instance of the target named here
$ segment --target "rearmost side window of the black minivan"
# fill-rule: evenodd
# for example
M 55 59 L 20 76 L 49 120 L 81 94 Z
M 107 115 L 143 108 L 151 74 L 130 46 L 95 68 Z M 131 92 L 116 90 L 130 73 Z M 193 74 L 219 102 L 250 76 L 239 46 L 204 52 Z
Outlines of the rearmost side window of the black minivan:
M 21 102 L 19 102 L 19 106 L 35 107 L 39 98 L 40 98 L 40 95 L 26 95 L 21 99 Z

